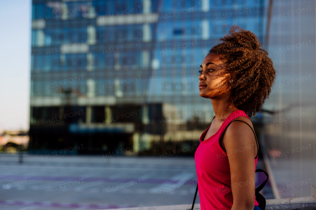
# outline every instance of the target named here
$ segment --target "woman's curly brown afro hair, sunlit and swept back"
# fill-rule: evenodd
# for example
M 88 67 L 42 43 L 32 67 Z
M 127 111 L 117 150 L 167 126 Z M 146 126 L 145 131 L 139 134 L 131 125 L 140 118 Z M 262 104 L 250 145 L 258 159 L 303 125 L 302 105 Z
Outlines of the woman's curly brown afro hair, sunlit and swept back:
M 256 35 L 232 25 L 209 53 L 220 54 L 226 72 L 235 79 L 229 85 L 232 94 L 229 105 L 243 110 L 248 117 L 258 113 L 265 99 L 269 98 L 276 71 Z

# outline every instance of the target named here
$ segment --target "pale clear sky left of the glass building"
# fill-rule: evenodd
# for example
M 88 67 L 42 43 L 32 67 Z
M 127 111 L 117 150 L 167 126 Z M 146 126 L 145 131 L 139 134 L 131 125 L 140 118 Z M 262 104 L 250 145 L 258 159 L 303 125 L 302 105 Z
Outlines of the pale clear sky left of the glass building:
M 29 129 L 31 0 L 0 1 L 0 132 Z

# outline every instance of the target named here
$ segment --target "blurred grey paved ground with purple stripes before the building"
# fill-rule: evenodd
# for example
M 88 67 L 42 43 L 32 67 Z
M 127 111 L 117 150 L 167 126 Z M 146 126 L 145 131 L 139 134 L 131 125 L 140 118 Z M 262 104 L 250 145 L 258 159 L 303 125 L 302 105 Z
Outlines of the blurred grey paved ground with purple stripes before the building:
M 1 156 L 0 167 L 3 210 L 190 204 L 196 189 L 193 157 L 27 155 L 19 164 L 17 156 Z M 272 195 L 269 183 L 264 193 Z

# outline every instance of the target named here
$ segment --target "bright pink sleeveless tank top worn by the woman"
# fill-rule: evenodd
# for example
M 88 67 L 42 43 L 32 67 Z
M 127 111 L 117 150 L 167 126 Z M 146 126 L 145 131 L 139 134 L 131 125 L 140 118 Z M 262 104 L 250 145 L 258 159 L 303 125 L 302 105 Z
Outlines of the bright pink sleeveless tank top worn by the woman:
M 224 120 L 213 136 L 203 141 L 210 128 L 209 126 L 200 137 L 201 143 L 197 147 L 194 159 L 201 210 L 230 210 L 233 206 L 228 156 L 220 146 L 219 138 L 227 125 L 241 116 L 249 119 L 244 111 L 236 110 Z M 255 158 L 255 167 L 257 166 L 257 160 L 258 155 Z M 256 199 L 254 204 L 255 206 L 259 205 Z

